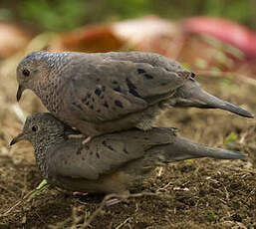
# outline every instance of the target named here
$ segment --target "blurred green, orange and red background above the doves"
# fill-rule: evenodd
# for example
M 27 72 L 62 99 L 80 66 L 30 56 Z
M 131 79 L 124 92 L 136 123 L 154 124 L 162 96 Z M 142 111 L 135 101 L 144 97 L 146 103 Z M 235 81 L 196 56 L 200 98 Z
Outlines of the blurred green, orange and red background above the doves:
M 256 72 L 255 0 L 9 0 L 0 4 L 2 58 L 22 50 L 140 50 L 176 59 L 194 71 L 210 70 L 209 74 L 234 72 L 234 68 L 235 75 L 252 77 Z

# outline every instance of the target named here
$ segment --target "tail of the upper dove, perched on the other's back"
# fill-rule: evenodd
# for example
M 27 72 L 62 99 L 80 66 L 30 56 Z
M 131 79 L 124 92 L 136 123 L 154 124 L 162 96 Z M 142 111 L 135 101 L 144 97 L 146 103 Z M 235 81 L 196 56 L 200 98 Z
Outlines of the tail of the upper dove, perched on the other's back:
M 230 113 L 239 114 L 246 117 L 254 117 L 253 114 L 222 101 L 200 89 L 194 82 L 189 82 L 177 90 L 176 95 L 170 99 L 170 105 L 174 107 L 195 107 L 201 109 L 221 109 Z

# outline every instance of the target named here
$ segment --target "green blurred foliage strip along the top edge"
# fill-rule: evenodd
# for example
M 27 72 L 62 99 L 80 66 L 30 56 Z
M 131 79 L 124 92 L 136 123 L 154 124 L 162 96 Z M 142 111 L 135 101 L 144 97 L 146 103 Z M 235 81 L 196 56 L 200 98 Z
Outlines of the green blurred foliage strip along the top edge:
M 10 19 L 12 15 L 50 31 L 148 14 L 169 19 L 195 15 L 225 17 L 256 29 L 255 0 L 9 0 L 0 4 L 0 19 Z

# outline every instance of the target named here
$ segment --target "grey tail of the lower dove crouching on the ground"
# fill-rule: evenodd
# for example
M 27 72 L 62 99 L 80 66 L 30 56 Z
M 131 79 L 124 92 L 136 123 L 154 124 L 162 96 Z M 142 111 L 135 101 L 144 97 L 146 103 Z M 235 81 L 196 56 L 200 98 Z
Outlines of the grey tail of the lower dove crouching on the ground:
M 158 145 L 150 149 L 150 156 L 159 162 L 212 157 L 216 159 L 246 159 L 247 155 L 240 151 L 209 147 L 193 142 L 187 138 L 176 136 L 169 144 Z

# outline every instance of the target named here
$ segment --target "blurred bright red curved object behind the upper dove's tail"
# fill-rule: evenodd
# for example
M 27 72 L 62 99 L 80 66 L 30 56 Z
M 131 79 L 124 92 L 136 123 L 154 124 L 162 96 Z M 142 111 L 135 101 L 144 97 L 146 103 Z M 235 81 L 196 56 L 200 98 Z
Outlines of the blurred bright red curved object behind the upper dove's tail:
M 183 21 L 190 34 L 207 34 L 241 50 L 248 59 L 256 58 L 256 34 L 246 27 L 223 18 L 193 17 Z

